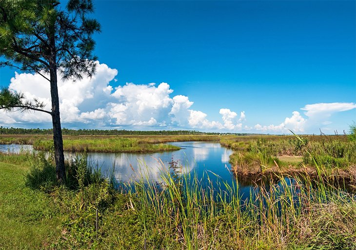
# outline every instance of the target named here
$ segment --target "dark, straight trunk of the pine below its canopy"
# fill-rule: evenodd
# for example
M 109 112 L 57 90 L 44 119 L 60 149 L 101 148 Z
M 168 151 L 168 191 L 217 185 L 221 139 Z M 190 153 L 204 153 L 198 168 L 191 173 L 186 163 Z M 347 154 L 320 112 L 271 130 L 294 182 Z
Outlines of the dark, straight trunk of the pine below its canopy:
M 52 99 L 52 124 L 53 124 L 53 142 L 55 147 L 55 161 L 57 180 L 60 183 L 65 183 L 65 167 L 63 153 L 62 129 L 60 126 L 59 116 L 59 96 L 57 86 L 57 67 L 51 65 L 50 68 L 50 83 L 51 83 L 51 99 Z

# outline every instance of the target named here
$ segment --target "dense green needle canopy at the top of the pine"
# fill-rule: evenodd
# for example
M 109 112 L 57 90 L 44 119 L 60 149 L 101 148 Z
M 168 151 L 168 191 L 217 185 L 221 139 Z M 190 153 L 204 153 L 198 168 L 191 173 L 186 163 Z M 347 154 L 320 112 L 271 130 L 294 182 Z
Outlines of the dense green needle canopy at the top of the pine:
M 87 17 L 94 11 L 90 0 L 71 0 L 66 10 L 57 0 L 1 0 L 0 65 L 45 73 L 56 65 L 61 77 L 81 79 L 95 74 L 92 35 L 99 22 Z

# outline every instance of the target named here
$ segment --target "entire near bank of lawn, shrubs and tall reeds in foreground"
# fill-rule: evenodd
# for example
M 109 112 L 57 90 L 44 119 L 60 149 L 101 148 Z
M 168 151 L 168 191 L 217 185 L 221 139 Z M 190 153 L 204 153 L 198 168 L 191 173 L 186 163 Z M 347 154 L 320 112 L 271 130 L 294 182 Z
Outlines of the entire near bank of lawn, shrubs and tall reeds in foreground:
M 202 189 L 194 175 L 161 175 L 164 185 L 115 190 L 82 157 L 59 187 L 40 155 L 0 155 L 0 248 L 143 249 L 144 239 L 147 249 L 356 248 L 356 197 L 321 178 L 280 177 L 242 202 L 237 184 Z

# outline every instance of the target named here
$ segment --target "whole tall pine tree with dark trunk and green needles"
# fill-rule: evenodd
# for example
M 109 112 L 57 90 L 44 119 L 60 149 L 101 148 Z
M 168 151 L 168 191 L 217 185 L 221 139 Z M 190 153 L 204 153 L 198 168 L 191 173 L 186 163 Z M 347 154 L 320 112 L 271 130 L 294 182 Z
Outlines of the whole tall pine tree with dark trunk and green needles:
M 0 66 L 36 73 L 51 90 L 51 111 L 38 100 L 25 100 L 10 89 L 0 91 L 0 109 L 35 110 L 51 114 L 57 178 L 65 182 L 63 140 L 59 115 L 57 77 L 81 79 L 95 74 L 92 35 L 99 22 L 89 18 L 91 0 L 0 0 Z M 58 74 L 59 73 L 59 74 Z

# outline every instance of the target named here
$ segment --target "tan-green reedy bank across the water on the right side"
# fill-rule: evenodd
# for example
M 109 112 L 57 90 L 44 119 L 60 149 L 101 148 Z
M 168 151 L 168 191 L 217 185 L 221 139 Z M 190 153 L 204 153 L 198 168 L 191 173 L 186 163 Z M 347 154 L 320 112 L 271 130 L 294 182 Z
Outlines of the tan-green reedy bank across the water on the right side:
M 356 141 L 346 136 L 230 137 L 230 163 L 237 175 L 303 173 L 356 181 Z M 319 169 L 316 169 L 316 166 Z

